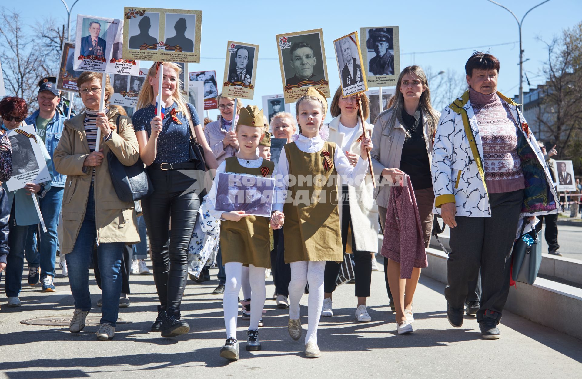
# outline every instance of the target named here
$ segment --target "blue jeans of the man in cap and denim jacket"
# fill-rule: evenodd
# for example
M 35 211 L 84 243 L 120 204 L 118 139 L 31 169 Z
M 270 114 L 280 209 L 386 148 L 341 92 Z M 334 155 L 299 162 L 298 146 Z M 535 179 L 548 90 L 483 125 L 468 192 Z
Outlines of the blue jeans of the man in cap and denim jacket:
M 30 246 L 30 251 L 29 246 L 26 246 L 26 260 L 31 267 L 35 267 L 33 262 L 36 262 L 36 267 L 40 262 L 41 278 L 47 275 L 55 277 L 56 248 L 59 243 L 56 227 L 59 224 L 63 192 L 65 192 L 63 187 L 51 187 L 44 198 L 38 199 L 38 206 L 40 206 L 42 219 L 47 226 L 47 232 L 42 231 L 42 227 L 39 229 L 37 225 L 31 225 L 29 229 L 29 235 L 34 242 Z M 38 230 L 40 230 L 40 247 L 37 250 Z

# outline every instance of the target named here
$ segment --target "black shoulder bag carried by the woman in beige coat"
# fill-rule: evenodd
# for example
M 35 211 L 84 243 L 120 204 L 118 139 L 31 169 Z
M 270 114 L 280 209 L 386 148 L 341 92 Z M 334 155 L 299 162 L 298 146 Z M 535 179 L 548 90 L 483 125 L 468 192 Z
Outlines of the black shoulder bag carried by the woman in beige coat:
M 116 121 L 116 133 L 119 131 L 119 119 Z M 154 192 L 150 177 L 144 168 L 144 163 L 138 157 L 137 162 L 132 166 L 123 165 L 112 151 L 107 154 L 109 163 L 109 174 L 115 193 L 119 200 L 134 202 L 150 196 Z

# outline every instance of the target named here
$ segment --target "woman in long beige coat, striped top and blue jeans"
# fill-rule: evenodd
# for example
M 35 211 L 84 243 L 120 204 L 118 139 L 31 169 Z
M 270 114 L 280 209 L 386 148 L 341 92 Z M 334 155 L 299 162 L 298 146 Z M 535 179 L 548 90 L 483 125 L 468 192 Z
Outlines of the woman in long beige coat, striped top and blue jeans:
M 133 203 L 119 200 L 109 174 L 107 154 L 111 151 L 123 165 L 137 162 L 139 148 L 132 120 L 123 109 L 108 105 L 100 111 L 100 92 L 105 100 L 113 94 L 102 74 L 84 72 L 77 80 L 84 112 L 65 121 L 61 142 L 54 153 L 56 170 L 67 176 L 63 194 L 63 238 L 61 253 L 69 269 L 69 283 L 75 310 L 69 330 L 79 332 L 91 310 L 88 269 L 97 245 L 102 278 L 101 324 L 98 339 L 111 339 L 119 310 L 122 287 L 120 274 L 123 247 L 140 241 Z M 99 151 L 95 151 L 97 129 L 101 130 Z

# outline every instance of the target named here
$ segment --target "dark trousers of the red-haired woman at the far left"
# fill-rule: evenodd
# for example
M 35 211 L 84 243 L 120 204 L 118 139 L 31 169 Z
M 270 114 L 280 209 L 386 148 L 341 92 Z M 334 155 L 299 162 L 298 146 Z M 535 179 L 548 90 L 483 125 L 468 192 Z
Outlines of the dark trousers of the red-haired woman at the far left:
M 6 256 L 6 296 L 19 296 L 22 289 L 22 270 L 24 266 L 24 245 L 30 241 L 29 226 L 16 225 L 14 204 L 8 221 L 8 246 L 10 252 Z M 33 266 L 34 267 L 34 266 Z

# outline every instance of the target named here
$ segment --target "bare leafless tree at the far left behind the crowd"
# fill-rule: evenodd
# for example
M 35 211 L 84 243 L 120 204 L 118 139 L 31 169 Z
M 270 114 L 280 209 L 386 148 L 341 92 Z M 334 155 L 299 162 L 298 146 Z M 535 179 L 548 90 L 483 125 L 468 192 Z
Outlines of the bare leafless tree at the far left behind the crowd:
M 22 97 L 27 103 L 36 101 L 37 80 L 42 73 L 41 56 L 33 38 L 24 32 L 20 13 L 2 8 L 0 13 L 0 60 L 8 94 Z

